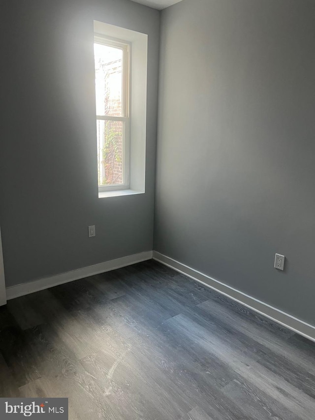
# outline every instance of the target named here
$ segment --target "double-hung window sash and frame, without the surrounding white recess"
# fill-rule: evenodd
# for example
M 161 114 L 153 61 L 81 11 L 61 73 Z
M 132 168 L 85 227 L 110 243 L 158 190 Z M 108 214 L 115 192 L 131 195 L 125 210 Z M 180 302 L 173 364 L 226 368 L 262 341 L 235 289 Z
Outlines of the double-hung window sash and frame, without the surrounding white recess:
M 129 44 L 94 38 L 99 191 L 129 188 Z

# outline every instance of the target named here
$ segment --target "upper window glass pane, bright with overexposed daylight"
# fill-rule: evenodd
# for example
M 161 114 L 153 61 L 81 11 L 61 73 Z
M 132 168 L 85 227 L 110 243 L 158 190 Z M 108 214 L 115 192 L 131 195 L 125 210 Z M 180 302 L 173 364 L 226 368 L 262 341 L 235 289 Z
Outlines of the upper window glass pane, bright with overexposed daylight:
M 123 50 L 94 44 L 96 115 L 122 116 Z

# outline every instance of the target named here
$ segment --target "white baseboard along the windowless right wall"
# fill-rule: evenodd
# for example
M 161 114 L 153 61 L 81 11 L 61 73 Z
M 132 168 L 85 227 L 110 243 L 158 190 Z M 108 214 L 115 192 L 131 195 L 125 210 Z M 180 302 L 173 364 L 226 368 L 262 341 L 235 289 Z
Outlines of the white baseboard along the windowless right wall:
M 300 335 L 303 335 L 309 340 L 315 341 L 314 325 L 301 321 L 292 315 L 286 314 L 280 309 L 274 308 L 267 303 L 261 302 L 260 300 L 249 296 L 242 291 L 238 291 L 237 289 L 232 288 L 231 286 L 227 286 L 224 283 L 221 283 L 218 280 L 213 279 L 212 277 L 189 267 L 188 265 L 158 253 L 157 251 L 153 251 L 153 259 L 161 262 L 164 265 L 167 265 L 170 268 L 173 268 L 179 273 L 182 273 L 199 283 L 202 283 L 204 286 L 224 294 L 230 299 L 241 303 L 242 305 L 252 309 L 258 314 L 263 315 L 264 317 L 267 317 L 270 320 L 279 323 Z

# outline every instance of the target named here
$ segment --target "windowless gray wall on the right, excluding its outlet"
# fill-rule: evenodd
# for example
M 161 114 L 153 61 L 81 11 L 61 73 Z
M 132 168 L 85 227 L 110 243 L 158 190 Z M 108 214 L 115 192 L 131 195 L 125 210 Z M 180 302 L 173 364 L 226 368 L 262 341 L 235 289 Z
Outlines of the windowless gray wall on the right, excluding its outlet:
M 184 0 L 161 35 L 154 249 L 314 324 L 315 2 Z

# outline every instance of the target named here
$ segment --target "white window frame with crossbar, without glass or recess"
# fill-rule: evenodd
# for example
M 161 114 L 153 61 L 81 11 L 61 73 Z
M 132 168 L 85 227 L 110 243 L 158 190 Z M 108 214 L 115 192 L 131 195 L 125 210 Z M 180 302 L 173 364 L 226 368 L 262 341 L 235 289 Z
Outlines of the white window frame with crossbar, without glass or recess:
M 94 34 L 94 42 L 119 48 L 123 51 L 123 70 L 122 70 L 122 116 L 96 115 L 96 122 L 102 121 L 122 121 L 123 122 L 123 180 L 122 184 L 98 185 L 98 192 L 128 190 L 130 188 L 130 60 L 131 43 L 105 36 L 99 33 Z

